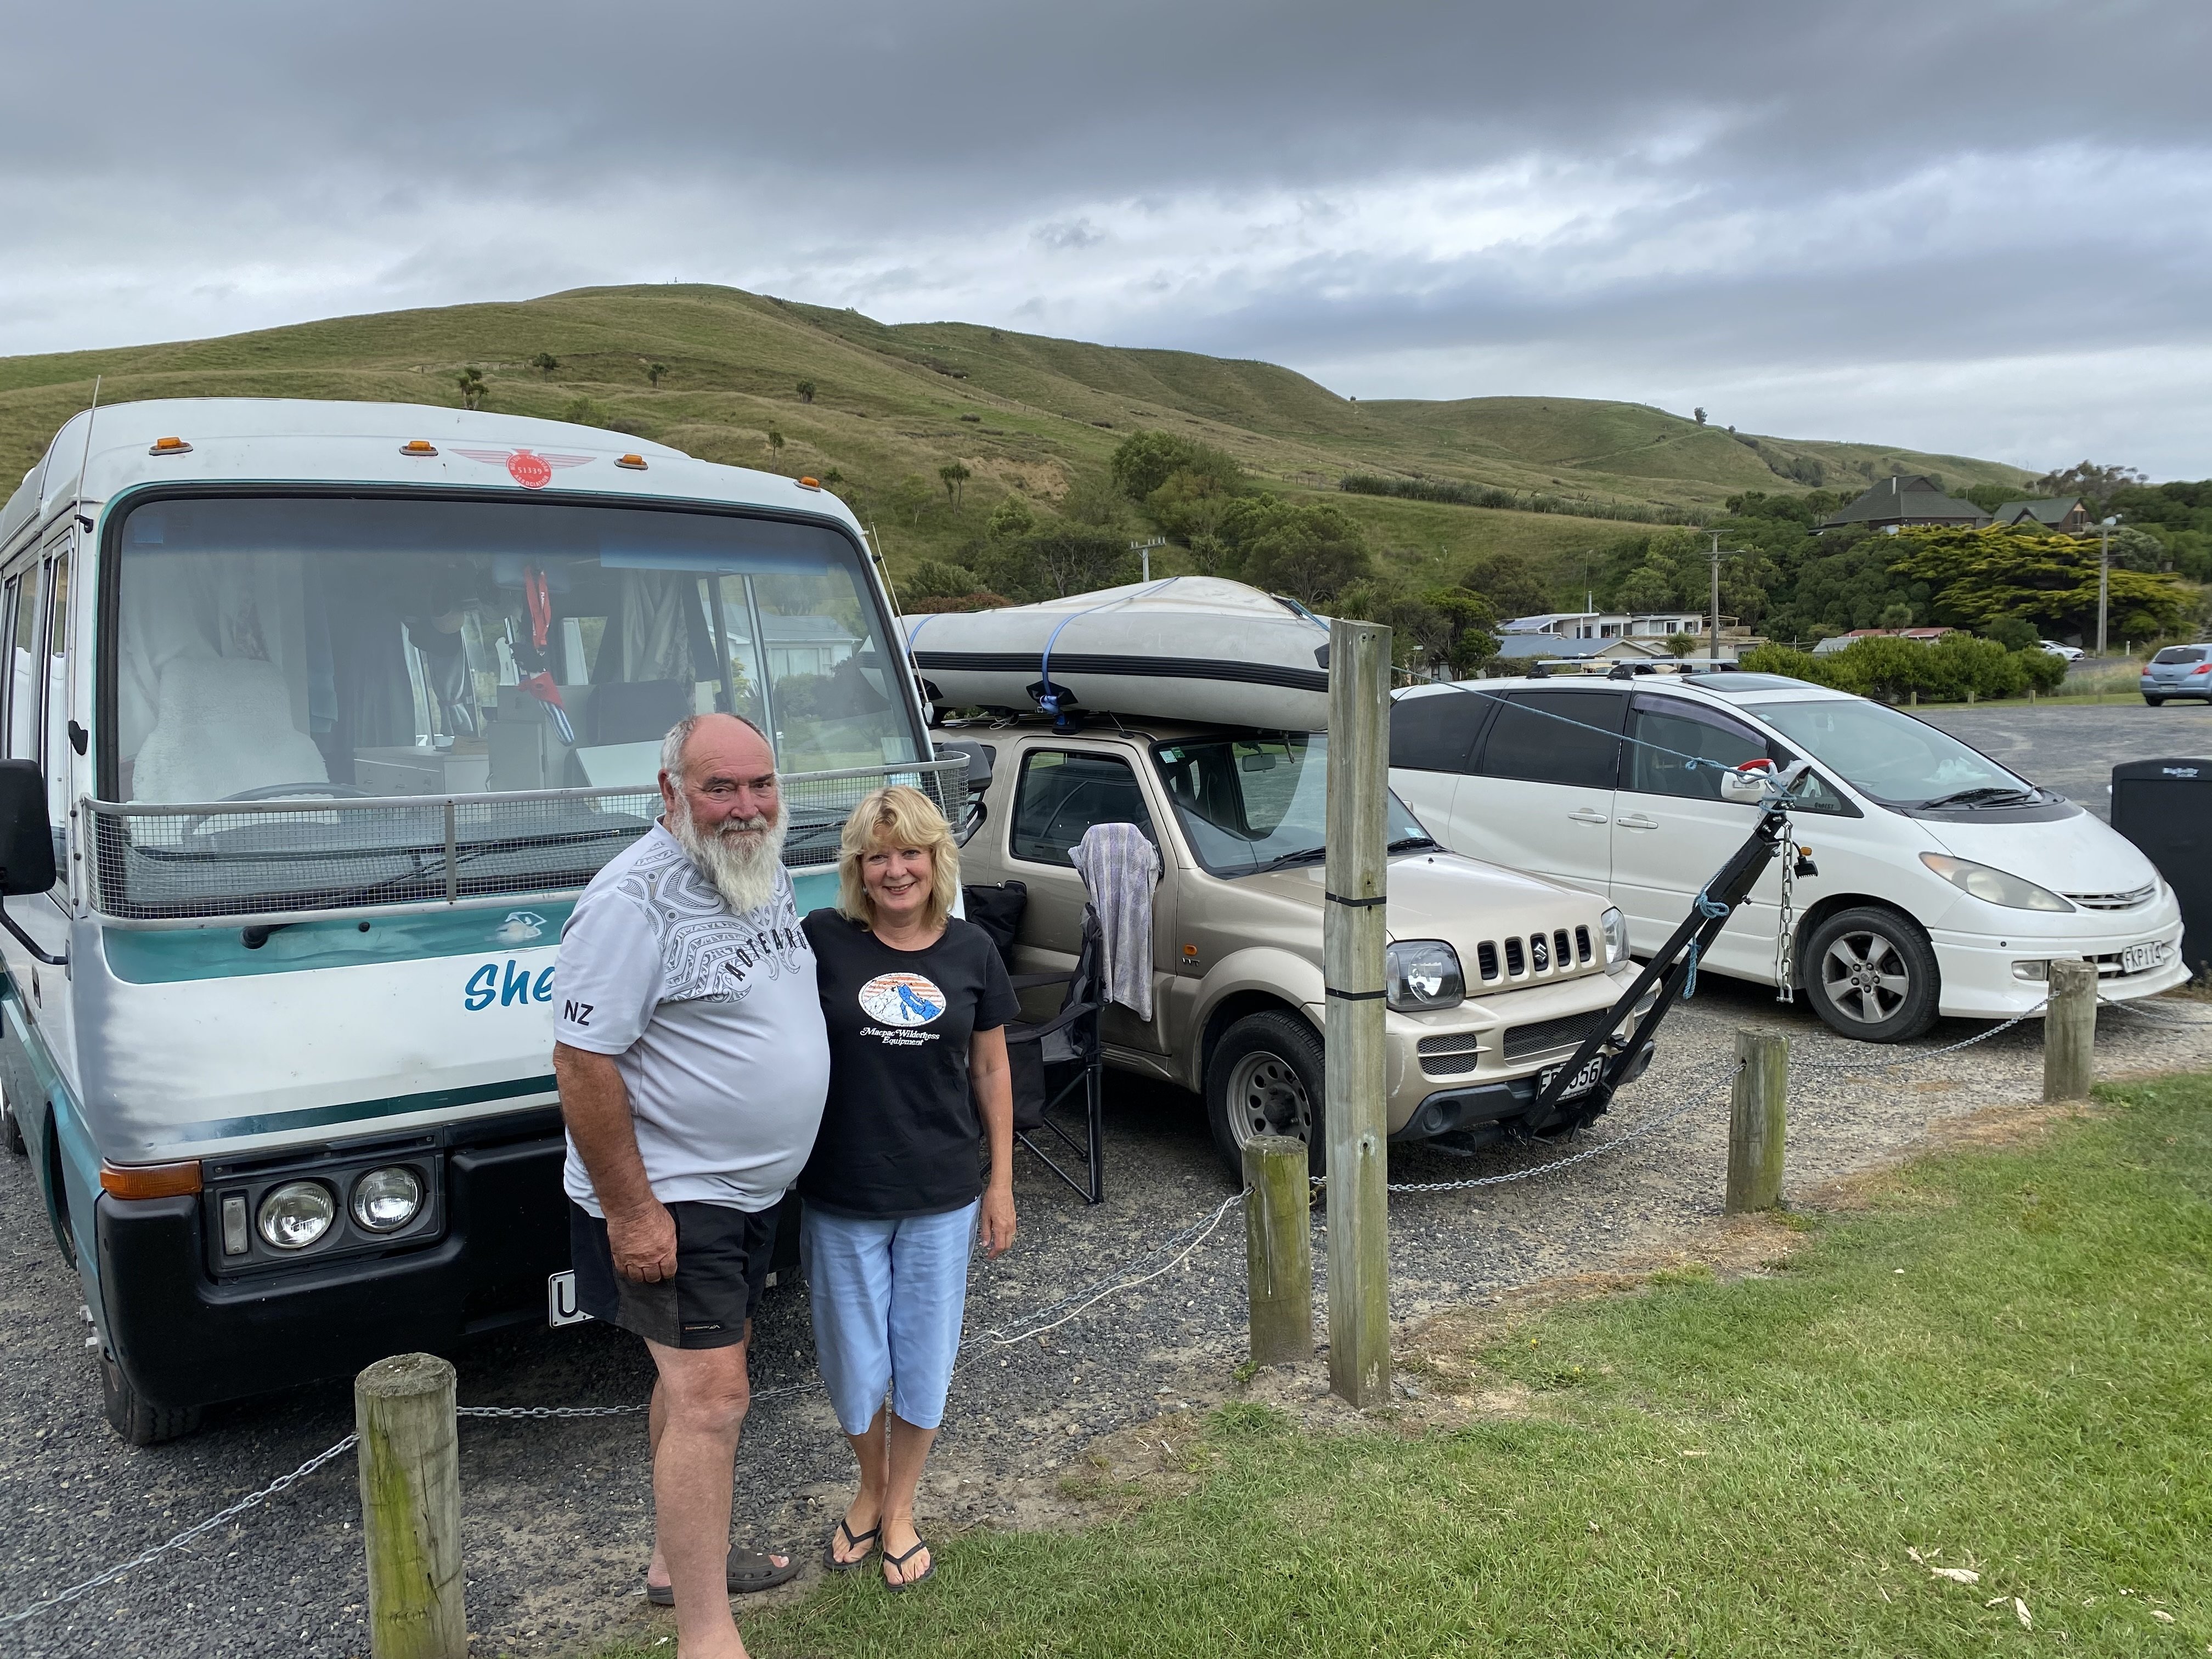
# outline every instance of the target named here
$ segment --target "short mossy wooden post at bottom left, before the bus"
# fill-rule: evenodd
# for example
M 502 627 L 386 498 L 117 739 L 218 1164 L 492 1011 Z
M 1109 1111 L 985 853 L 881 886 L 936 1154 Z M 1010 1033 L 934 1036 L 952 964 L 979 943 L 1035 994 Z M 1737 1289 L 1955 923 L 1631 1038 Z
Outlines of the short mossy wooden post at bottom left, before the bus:
M 469 1659 L 453 1367 L 396 1354 L 354 1378 L 361 1535 L 376 1659 Z

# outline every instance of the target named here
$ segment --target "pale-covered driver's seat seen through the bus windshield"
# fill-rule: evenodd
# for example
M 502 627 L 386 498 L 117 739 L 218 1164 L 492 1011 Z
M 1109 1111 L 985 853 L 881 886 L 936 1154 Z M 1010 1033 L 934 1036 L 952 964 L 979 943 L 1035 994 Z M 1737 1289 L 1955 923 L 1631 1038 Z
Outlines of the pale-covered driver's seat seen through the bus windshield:
M 283 783 L 330 783 L 323 750 L 292 726 L 283 670 L 259 657 L 170 657 L 131 796 L 228 801 Z

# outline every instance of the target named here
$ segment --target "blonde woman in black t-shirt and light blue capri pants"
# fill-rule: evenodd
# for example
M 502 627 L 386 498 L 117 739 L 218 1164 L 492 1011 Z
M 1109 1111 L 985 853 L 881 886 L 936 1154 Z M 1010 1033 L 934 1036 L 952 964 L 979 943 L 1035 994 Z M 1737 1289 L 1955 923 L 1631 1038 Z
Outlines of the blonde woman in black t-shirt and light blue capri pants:
M 803 922 L 830 1104 L 799 1177 L 799 1248 L 823 1383 L 860 1460 L 823 1557 L 849 1573 L 883 1548 L 894 1590 L 938 1571 L 914 1491 L 945 1420 L 978 1219 L 993 1256 L 1013 1243 L 1006 1022 L 1020 1004 L 991 938 L 951 914 L 958 891 L 945 816 L 891 785 L 845 821 L 836 909 Z

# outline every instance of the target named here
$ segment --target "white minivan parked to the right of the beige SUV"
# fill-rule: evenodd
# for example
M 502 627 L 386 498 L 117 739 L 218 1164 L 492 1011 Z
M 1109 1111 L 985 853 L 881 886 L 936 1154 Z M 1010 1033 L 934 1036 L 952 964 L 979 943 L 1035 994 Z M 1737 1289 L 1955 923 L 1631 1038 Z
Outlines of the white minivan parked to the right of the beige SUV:
M 1723 672 L 1413 686 L 1391 708 L 1391 787 L 1429 834 L 1608 896 L 1635 953 L 1752 832 L 1756 807 L 1723 801 L 1721 776 L 1756 757 L 1812 761 L 1794 814 L 1812 874 L 1783 929 L 1776 860 L 1705 969 L 1781 984 L 1787 964 L 1832 1029 L 1867 1042 L 2028 1013 L 2053 958 L 2097 962 L 2108 1000 L 2188 978 L 2181 907 L 2135 845 L 1865 697 Z

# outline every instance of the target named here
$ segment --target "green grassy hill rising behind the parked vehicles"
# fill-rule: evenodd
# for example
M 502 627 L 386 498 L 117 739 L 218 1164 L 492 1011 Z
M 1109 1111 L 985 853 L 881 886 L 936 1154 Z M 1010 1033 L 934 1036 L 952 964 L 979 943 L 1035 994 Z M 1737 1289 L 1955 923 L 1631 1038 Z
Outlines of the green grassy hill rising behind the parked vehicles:
M 560 367 L 538 372 L 551 354 Z M 1568 504 L 1717 511 L 1743 489 L 1854 489 L 1891 471 L 2015 484 L 2013 467 L 1871 445 L 1752 438 L 1630 403 L 1467 398 L 1354 403 L 1272 363 L 1141 352 L 969 323 L 885 325 L 734 288 L 584 288 L 544 299 L 341 316 L 212 341 L 0 358 L 0 467 L 22 471 L 91 396 L 365 398 L 458 405 L 482 367 L 489 409 L 584 418 L 706 460 L 841 473 L 894 568 L 947 557 L 1006 495 L 1057 502 L 1135 429 L 1234 453 L 1294 495 L 1356 513 L 1400 564 L 1455 571 L 1493 551 L 1571 580 L 1621 522 L 1343 495 L 1345 473 L 1493 484 Z M 664 363 L 659 385 L 648 363 Z M 812 380 L 814 400 L 796 385 Z M 571 416 L 573 418 L 573 416 Z M 776 434 L 781 447 L 772 442 Z M 896 484 L 960 460 L 956 507 L 894 504 Z M 1816 465 L 1816 471 L 1814 471 Z M 1796 471 L 1792 471 L 1796 469 Z M 13 476 L 13 473 L 7 473 Z M 1170 566 L 1172 568 L 1172 555 Z

